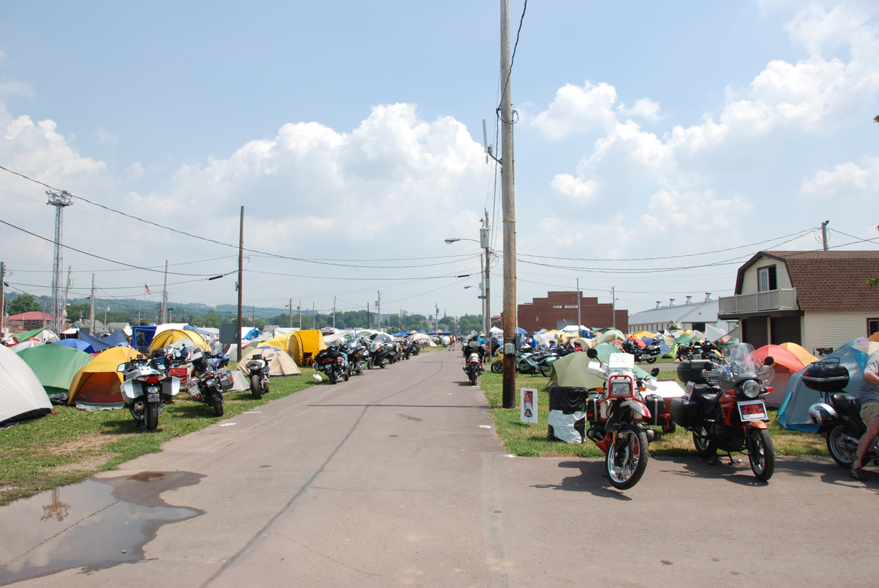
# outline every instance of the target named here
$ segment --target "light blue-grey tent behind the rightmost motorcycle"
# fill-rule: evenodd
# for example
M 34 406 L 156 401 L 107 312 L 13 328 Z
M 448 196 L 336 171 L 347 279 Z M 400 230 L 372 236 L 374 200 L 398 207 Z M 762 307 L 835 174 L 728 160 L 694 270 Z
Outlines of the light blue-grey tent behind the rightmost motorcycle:
M 845 345 L 821 359 L 822 362 L 838 361 L 839 365 L 848 369 L 848 384 L 843 391 L 854 398 L 858 398 L 864 364 L 868 358 L 868 354 L 857 347 Z M 821 400 L 821 392 L 810 390 L 803 384 L 803 372 L 804 368 L 790 376 L 784 402 L 778 410 L 778 422 L 786 429 L 816 432 L 817 426 L 809 419 L 809 407 Z

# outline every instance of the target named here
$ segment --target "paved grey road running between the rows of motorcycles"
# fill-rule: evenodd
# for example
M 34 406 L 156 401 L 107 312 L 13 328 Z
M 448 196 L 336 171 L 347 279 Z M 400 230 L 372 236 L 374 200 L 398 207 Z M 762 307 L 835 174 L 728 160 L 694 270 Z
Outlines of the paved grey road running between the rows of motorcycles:
M 788 458 L 759 484 L 746 461 L 655 459 L 614 491 L 599 460 L 505 455 L 461 365 L 315 386 L 108 472 L 120 495 L 188 476 L 161 499 L 203 514 L 142 562 L 19 585 L 875 585 L 879 473 Z

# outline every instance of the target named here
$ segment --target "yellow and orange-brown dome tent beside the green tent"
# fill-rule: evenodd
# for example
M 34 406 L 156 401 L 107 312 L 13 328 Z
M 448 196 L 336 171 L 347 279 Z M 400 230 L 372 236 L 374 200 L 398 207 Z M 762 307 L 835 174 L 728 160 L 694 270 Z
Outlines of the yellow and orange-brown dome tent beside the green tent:
M 76 372 L 67 391 L 67 404 L 121 408 L 122 374 L 116 371 L 120 363 L 134 357 L 143 357 L 137 349 L 112 347 L 95 356 L 88 365 Z

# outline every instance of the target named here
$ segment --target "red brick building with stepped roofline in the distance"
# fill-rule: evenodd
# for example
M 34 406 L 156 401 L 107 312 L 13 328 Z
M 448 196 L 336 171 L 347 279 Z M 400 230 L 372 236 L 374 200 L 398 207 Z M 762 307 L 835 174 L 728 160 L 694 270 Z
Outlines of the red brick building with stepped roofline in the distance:
M 532 298 L 519 305 L 519 326 L 528 333 L 541 329 L 562 328 L 577 324 L 577 292 L 547 292 L 546 298 Z M 614 326 L 614 306 L 599 304 L 598 298 L 585 298 L 580 293 L 580 323 L 592 328 Z M 628 311 L 616 309 L 616 328 L 628 332 Z

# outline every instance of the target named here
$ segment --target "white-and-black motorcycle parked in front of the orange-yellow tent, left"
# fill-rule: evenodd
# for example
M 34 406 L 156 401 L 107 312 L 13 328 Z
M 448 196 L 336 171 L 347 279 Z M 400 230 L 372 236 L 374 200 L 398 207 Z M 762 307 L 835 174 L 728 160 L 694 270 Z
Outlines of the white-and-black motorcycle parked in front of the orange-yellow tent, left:
M 162 405 L 174 401 L 180 391 L 180 380 L 163 373 L 152 358 L 133 359 L 121 363 L 116 370 L 125 375 L 120 392 L 134 423 L 155 431 Z

